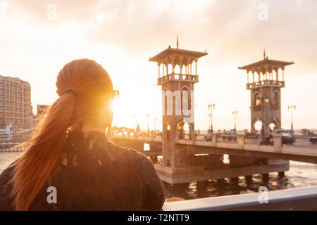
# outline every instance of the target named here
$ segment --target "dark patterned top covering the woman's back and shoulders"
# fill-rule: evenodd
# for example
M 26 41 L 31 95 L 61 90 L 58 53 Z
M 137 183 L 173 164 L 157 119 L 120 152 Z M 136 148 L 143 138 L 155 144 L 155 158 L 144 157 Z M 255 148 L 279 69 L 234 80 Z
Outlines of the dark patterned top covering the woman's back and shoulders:
M 10 197 L 13 167 L 0 175 L 0 210 L 13 210 Z M 116 146 L 99 131 L 84 138 L 67 136 L 66 148 L 29 210 L 149 210 L 160 209 L 164 189 L 152 163 L 142 153 Z M 56 187 L 57 203 L 46 200 Z

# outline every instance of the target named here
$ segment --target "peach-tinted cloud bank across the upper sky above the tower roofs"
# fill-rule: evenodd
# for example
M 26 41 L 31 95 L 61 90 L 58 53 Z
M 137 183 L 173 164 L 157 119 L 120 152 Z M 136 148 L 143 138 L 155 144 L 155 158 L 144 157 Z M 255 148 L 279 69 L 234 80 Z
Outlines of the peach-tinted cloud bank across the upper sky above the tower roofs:
M 55 21 L 47 19 L 48 4 L 56 4 Z M 260 4 L 268 6 L 268 20 L 259 20 Z M 269 57 L 317 68 L 313 0 L 11 0 L 10 6 L 27 25 L 73 23 L 95 44 L 139 58 L 175 46 L 178 34 L 181 47 L 211 52 L 210 63 L 260 60 L 266 46 Z

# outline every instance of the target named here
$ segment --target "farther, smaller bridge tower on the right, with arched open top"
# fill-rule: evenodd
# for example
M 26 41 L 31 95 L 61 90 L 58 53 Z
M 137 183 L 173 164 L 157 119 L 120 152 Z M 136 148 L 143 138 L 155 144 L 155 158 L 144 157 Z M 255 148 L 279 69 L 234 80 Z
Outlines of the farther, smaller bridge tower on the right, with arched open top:
M 238 67 L 247 71 L 247 90 L 251 91 L 251 131 L 255 131 L 258 121 L 262 123 L 264 136 L 281 128 L 280 91 L 285 87 L 285 66 L 291 64 L 294 63 L 269 59 L 264 49 L 263 60 Z

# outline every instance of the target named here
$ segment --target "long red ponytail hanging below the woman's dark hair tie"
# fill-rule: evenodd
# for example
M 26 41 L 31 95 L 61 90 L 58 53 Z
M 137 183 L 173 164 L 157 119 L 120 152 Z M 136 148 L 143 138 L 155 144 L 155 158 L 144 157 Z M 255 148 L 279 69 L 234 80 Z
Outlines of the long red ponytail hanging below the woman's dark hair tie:
M 67 129 L 75 122 L 75 98 L 71 92 L 61 95 L 46 115 L 41 115 L 32 139 L 18 146 L 27 146 L 27 150 L 13 165 L 11 195 L 15 210 L 28 210 L 49 178 L 66 144 Z

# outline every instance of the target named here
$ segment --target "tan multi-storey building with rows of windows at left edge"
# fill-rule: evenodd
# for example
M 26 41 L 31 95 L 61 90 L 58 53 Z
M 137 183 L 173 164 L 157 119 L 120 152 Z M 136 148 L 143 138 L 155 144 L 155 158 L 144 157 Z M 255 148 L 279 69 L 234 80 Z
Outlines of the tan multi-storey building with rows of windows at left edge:
M 18 77 L 0 75 L 0 127 L 8 124 L 12 124 L 12 141 L 28 138 L 28 134 L 23 134 L 15 140 L 14 134 L 32 127 L 31 86 Z

